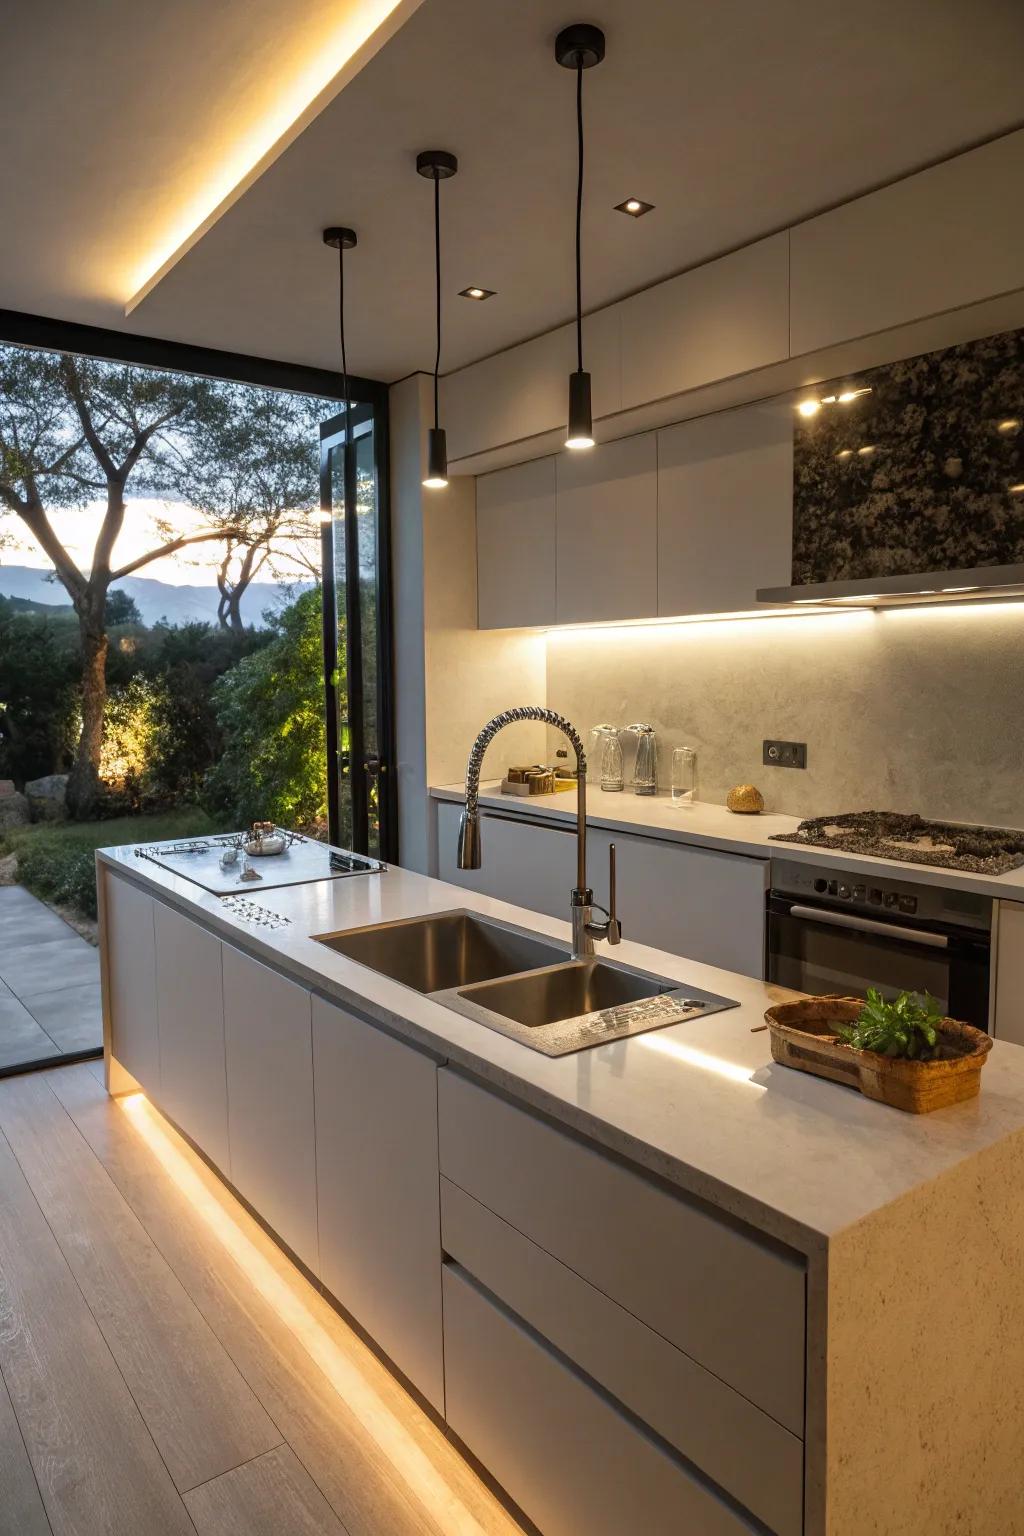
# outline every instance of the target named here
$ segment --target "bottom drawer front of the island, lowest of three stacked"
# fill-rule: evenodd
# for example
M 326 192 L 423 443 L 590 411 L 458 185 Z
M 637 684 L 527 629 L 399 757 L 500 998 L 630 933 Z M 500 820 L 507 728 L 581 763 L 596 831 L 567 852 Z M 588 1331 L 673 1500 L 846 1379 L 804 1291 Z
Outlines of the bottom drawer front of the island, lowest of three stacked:
M 543 1536 L 751 1536 L 754 1527 L 445 1266 L 451 1428 Z

